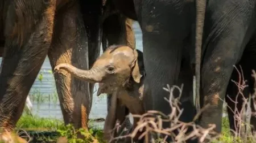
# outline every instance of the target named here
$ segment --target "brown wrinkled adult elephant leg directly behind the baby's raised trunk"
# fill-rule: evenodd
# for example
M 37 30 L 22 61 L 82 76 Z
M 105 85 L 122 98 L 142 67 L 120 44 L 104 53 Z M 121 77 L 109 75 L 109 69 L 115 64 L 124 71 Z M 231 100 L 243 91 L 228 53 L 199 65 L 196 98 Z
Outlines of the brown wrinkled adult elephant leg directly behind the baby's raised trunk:
M 57 11 L 48 53 L 52 69 L 61 63 L 88 69 L 88 38 L 79 9 L 78 3 L 68 3 Z M 65 124 L 88 129 L 92 105 L 88 82 L 78 80 L 65 71 L 55 73 L 54 77 Z

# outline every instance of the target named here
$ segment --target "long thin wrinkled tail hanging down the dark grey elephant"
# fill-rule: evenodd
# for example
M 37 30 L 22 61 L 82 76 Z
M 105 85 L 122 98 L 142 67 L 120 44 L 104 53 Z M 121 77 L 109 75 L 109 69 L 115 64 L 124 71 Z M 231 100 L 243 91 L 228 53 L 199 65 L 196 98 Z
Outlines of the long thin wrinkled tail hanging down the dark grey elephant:
M 195 58 L 196 58 L 196 109 L 200 110 L 200 70 L 201 70 L 201 46 L 203 41 L 204 18 L 205 18 L 206 0 L 196 1 L 196 41 L 195 41 Z

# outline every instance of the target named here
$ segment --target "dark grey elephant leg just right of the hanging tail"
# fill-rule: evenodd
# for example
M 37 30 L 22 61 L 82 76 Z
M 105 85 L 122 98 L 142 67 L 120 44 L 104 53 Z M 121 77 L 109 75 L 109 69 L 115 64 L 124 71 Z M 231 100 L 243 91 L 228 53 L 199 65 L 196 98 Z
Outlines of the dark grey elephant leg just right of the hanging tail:
M 222 105 L 226 94 L 226 88 L 232 75 L 233 65 L 237 64 L 242 57 L 243 50 L 253 30 L 248 30 L 250 23 L 241 23 L 240 21 L 250 19 L 254 8 L 247 9 L 247 12 L 235 10 L 233 14 L 225 14 L 226 7 L 243 8 L 241 1 L 230 1 L 222 3 L 223 7 L 218 7 L 220 3 L 212 3 L 208 6 L 209 11 L 205 19 L 205 51 L 201 70 L 201 103 L 200 105 L 209 105 L 201 114 L 200 125 L 208 128 L 209 124 L 215 124 L 215 131 L 221 132 L 222 123 Z M 241 5 L 242 4 L 242 5 Z M 231 6 L 230 6 L 231 5 Z M 240 7 L 241 6 L 241 7 Z M 216 8 L 217 7 L 217 8 Z M 213 11 L 212 11 L 213 10 Z M 218 15 L 218 16 L 217 16 Z M 225 19 L 222 16 L 225 15 Z M 233 19 L 233 15 L 237 18 Z M 218 21 L 215 25 L 212 21 Z M 229 23 L 226 26 L 222 24 Z M 238 34 L 239 33 L 239 34 Z

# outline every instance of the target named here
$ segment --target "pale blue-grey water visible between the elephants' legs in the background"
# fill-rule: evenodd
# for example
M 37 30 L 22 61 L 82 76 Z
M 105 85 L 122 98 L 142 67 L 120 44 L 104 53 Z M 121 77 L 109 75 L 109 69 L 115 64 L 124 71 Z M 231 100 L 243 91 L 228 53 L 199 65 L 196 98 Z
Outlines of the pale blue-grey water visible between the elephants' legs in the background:
M 133 24 L 135 37 L 136 37 L 136 47 L 139 50 L 142 49 L 142 33 L 139 24 L 135 22 Z M 101 50 L 102 53 L 102 50 Z M 0 63 L 2 58 L 0 58 Z M 97 85 L 94 90 L 97 90 Z M 40 117 L 51 117 L 63 119 L 60 110 L 59 99 L 56 94 L 55 81 L 51 72 L 51 66 L 48 57 L 43 63 L 43 66 L 32 85 L 29 93 L 33 109 L 32 113 Z M 106 117 L 106 96 L 96 96 L 96 92 L 93 94 L 92 110 L 90 111 L 89 118 L 104 118 Z

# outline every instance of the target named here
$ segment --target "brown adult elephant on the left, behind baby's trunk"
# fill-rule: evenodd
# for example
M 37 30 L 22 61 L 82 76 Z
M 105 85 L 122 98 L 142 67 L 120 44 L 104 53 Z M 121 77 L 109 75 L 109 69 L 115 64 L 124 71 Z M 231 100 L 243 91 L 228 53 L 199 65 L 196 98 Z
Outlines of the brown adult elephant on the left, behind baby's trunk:
M 0 139 L 10 132 L 22 114 L 27 94 L 48 55 L 54 68 L 70 63 L 84 70 L 100 53 L 102 1 L 1 1 L 0 51 Z M 112 17 L 117 44 L 134 40 L 131 21 Z M 103 26 L 110 27 L 110 23 Z M 131 38 L 127 38 L 130 36 Z M 65 124 L 88 128 L 93 84 L 55 73 L 57 93 Z

